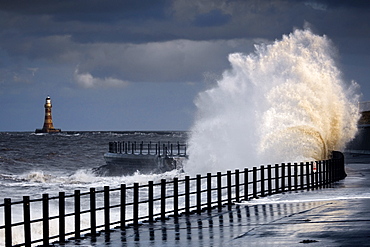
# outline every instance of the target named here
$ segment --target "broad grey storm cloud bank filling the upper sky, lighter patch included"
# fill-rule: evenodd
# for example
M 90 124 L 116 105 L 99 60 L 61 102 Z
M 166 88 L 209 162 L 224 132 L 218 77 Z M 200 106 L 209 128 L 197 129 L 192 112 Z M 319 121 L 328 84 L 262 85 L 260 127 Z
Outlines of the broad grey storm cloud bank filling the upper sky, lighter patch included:
M 25 60 L 47 61 L 69 64 L 75 78 L 76 71 L 101 78 L 92 81 L 196 81 L 227 68 L 228 53 L 248 52 L 256 38 L 280 39 L 305 22 L 343 53 L 370 53 L 369 6 L 344 0 L 3 0 L 0 49 L 16 61 L 14 70 Z

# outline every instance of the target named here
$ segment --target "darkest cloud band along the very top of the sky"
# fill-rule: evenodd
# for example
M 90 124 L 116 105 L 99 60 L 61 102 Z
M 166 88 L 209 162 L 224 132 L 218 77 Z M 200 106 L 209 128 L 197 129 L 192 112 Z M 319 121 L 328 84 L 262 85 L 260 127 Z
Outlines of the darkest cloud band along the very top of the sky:
M 2 18 L 3 28 L 24 36 L 70 35 L 81 43 L 145 43 L 276 38 L 291 31 L 292 25 L 301 27 L 304 21 L 335 29 L 338 21 L 337 24 L 344 20 L 350 23 L 353 18 L 368 21 L 366 13 L 358 15 L 358 11 L 366 12 L 369 6 L 369 1 L 346 0 L 4 0 L 0 11 L 6 15 Z M 340 18 L 339 14 L 344 16 Z

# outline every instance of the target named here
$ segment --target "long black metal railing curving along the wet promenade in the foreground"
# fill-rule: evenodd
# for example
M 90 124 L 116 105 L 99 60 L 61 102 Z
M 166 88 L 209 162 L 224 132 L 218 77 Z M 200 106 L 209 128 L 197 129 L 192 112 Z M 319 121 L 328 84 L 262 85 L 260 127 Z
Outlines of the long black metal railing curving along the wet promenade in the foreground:
M 5 198 L 0 204 L 4 217 L 1 239 L 6 246 L 47 246 L 51 242 L 96 236 L 99 231 L 109 232 L 113 228 L 124 230 L 181 214 L 200 214 L 276 193 L 314 190 L 345 176 L 343 155 L 337 153 L 333 159 L 323 161 L 262 165 L 147 184 L 122 184 L 119 188 L 59 192 L 57 196 L 43 194 L 38 199 L 24 196 L 15 202 Z M 34 212 L 31 208 L 39 210 Z

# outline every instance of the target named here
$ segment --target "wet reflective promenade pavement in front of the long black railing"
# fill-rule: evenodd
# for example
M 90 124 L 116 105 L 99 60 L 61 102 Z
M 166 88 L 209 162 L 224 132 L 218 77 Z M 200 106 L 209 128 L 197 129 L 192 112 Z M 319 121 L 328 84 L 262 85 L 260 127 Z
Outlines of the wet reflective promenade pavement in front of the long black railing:
M 349 161 L 348 177 L 330 188 L 102 232 L 65 246 L 370 246 L 370 165 Z

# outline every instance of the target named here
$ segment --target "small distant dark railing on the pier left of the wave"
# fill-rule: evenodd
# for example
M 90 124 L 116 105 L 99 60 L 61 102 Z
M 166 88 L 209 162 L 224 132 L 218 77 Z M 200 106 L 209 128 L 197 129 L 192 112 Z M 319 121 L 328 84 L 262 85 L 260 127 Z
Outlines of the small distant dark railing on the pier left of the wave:
M 186 144 L 180 142 L 109 142 L 108 152 L 134 155 L 186 156 Z

